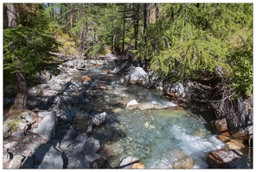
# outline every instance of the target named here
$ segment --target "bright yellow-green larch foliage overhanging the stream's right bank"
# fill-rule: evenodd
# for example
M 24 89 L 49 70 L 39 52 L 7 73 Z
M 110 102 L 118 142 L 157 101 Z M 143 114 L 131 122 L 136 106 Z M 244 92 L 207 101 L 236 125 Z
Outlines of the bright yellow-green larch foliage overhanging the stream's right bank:
M 158 42 L 168 40 L 170 48 L 158 43 L 159 53 L 150 56 L 155 70 L 166 76 L 176 73 L 176 79 L 182 80 L 195 78 L 200 72 L 214 72 L 218 64 L 238 95 L 252 94 L 253 4 L 166 4 L 160 16 L 146 35 L 155 35 L 157 30 Z M 150 50 L 150 45 L 144 46 Z M 145 51 L 139 54 L 143 56 Z

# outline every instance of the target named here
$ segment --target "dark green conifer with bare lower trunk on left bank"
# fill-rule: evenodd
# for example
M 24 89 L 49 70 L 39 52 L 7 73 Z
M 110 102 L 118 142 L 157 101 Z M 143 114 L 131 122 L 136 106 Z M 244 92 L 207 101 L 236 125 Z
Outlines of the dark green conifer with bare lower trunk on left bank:
M 17 94 L 14 108 L 20 110 L 27 107 L 27 77 L 36 72 L 54 71 L 60 64 L 52 54 L 57 51 L 59 44 L 45 30 L 48 20 L 43 15 L 42 4 L 34 4 L 35 13 L 29 13 L 33 17 L 24 17 L 22 14 L 23 21 L 19 21 L 21 18 L 17 17 L 21 16 L 21 12 L 16 15 L 16 11 L 19 11 L 21 5 L 24 10 L 27 4 L 5 5 L 9 28 L 3 30 L 3 73 L 5 80 L 16 75 Z

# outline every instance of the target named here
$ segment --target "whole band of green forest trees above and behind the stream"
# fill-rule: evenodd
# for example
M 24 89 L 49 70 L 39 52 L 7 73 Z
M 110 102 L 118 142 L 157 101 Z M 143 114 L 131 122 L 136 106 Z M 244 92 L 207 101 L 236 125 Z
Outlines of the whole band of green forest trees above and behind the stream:
M 56 73 L 54 52 L 124 55 L 172 83 L 214 80 L 222 100 L 247 98 L 253 3 L 3 3 L 3 86 L 18 83 L 17 104 L 36 72 Z

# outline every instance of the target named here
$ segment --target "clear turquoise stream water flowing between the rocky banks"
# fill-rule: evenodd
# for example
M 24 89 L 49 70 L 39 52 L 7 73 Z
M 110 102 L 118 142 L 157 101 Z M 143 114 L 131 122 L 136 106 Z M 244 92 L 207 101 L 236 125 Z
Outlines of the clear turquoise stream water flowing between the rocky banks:
M 210 130 L 202 115 L 192 114 L 163 99 L 161 91 L 124 83 L 122 77 L 104 74 L 111 65 L 91 67 L 76 73 L 94 78 L 95 87 L 88 89 L 93 97 L 80 104 L 80 111 L 92 107 L 106 112 L 106 122 L 94 127 L 91 137 L 99 139 L 101 157 L 109 168 L 117 168 L 125 157 L 133 156 L 145 169 L 205 169 L 209 151 L 224 147 Z M 99 89 L 100 88 L 100 89 Z M 132 100 L 139 106 L 126 107 Z M 86 132 L 86 116 L 76 117 L 74 128 Z

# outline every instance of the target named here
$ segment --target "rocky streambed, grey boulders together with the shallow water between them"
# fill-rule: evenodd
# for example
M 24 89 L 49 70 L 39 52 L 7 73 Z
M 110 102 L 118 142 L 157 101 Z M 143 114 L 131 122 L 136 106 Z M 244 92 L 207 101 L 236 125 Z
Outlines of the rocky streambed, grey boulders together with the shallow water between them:
M 202 117 L 190 118 L 191 114 L 156 91 L 139 91 L 136 85 L 127 89 L 124 84 L 128 83 L 144 85 L 142 89 L 153 83 L 158 89 L 166 85 L 157 83 L 154 73 L 148 77 L 136 64 L 114 65 L 114 61 L 77 58 L 62 64 L 58 76 L 37 76 L 42 83 L 29 88 L 29 110 L 4 114 L 3 169 L 252 168 L 248 143 L 212 136 L 211 125 Z M 182 83 L 168 88 L 188 97 Z M 181 123 L 181 116 L 188 118 L 187 123 L 175 126 L 173 122 Z M 206 125 L 208 130 L 196 122 L 198 130 L 189 128 L 193 119 L 202 121 L 200 127 Z M 157 120 L 160 123 L 156 124 Z M 166 139 L 159 131 L 170 133 L 170 139 L 182 139 L 183 144 L 177 142 L 172 150 L 170 144 L 159 148 L 155 140 Z M 194 144 L 189 144 L 192 141 Z M 195 149 L 202 146 L 205 161 L 186 151 L 188 144 Z M 169 154 L 157 157 L 159 149 Z

